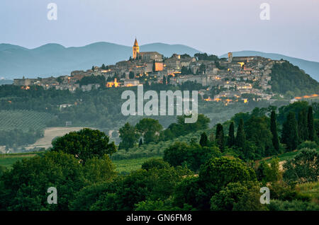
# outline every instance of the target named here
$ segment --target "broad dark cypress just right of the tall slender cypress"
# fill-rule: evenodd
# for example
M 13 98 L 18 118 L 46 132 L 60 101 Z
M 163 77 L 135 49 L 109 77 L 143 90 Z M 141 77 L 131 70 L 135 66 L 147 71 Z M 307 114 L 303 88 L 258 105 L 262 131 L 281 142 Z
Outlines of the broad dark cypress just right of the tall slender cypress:
M 299 139 L 297 132 L 297 122 L 295 113 L 290 112 L 287 116 L 286 122 L 284 122 L 281 134 L 281 142 L 286 144 L 289 151 L 297 148 Z

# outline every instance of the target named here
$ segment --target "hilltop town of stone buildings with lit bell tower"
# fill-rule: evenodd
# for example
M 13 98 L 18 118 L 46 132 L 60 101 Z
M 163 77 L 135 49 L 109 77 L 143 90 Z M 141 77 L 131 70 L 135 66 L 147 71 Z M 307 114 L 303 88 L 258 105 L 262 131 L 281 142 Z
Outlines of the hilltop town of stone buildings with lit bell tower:
M 133 54 L 130 59 L 115 65 L 92 67 L 86 71 L 72 71 L 66 76 L 14 79 L 13 84 L 21 88 L 31 85 L 43 88 L 56 88 L 71 92 L 80 89 L 91 91 L 100 88 L 130 87 L 142 84 L 163 83 L 181 85 L 187 81 L 201 84 L 199 91 L 206 101 L 222 101 L 225 104 L 252 100 L 272 100 L 272 67 L 284 60 L 272 60 L 264 57 L 233 57 L 219 59 L 215 55 L 198 53 L 193 57 L 188 54 L 173 54 L 164 57 L 159 52 L 140 52 L 135 39 Z M 84 79 L 86 77 L 86 79 Z M 98 78 L 99 79 L 94 79 Z M 105 82 L 98 82 L 105 80 Z M 85 81 L 86 80 L 86 81 Z M 84 82 L 82 82 L 84 81 Z

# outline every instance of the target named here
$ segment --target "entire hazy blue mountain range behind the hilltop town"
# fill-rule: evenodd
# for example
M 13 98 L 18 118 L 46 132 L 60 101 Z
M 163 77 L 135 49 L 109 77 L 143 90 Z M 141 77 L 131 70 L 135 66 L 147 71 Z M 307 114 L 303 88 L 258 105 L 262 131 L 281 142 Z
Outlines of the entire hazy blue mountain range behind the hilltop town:
M 186 45 L 168 45 L 152 43 L 141 45 L 142 52 L 159 52 L 165 57 L 172 54 L 189 54 L 201 52 Z M 0 78 L 14 79 L 60 76 L 70 74 L 73 70 L 90 69 L 101 64 L 115 64 L 129 59 L 132 47 L 116 45 L 109 42 L 96 42 L 83 47 L 64 47 L 58 44 L 47 44 L 34 49 L 18 45 L 0 44 Z M 270 59 L 286 59 L 306 71 L 313 79 L 319 81 L 319 62 L 254 51 L 233 52 L 233 56 L 259 55 Z M 223 54 L 220 57 L 227 57 Z

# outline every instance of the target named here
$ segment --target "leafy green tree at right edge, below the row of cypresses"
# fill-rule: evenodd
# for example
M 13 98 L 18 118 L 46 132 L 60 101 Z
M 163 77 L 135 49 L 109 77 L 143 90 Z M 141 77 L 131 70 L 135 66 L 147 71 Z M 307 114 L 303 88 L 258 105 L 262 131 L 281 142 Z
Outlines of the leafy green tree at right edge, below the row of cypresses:
M 319 153 L 315 149 L 301 149 L 295 158 L 284 163 L 284 169 L 284 180 L 288 182 L 318 182 Z

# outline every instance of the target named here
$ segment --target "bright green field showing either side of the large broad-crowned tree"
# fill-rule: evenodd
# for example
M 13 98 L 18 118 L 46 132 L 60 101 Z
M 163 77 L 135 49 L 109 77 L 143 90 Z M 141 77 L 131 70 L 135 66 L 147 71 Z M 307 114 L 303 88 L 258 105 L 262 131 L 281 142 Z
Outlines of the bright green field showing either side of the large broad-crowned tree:
M 43 152 L 31 152 L 31 153 L 21 153 L 21 154 L 0 154 L 0 166 L 6 168 L 12 168 L 13 163 L 23 158 L 31 158 Z M 159 156 L 155 157 L 145 157 L 145 158 L 132 158 L 132 159 L 122 159 L 113 161 L 116 166 L 116 171 L 119 173 L 129 173 L 130 171 L 135 171 L 141 168 L 142 163 L 149 160 L 150 158 L 161 158 Z

